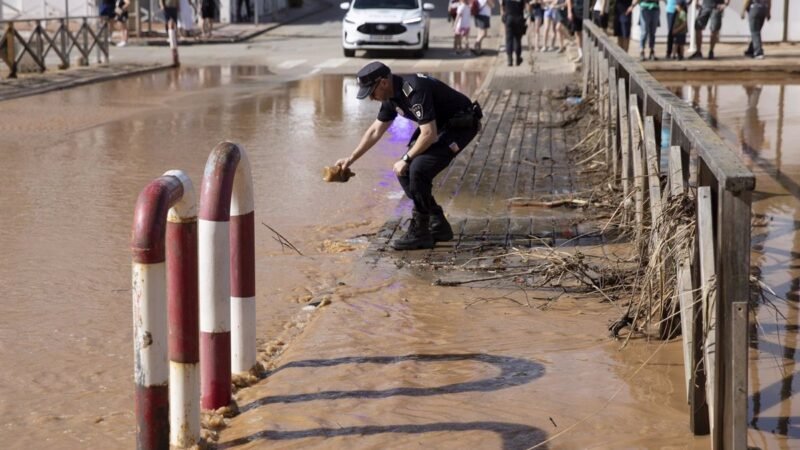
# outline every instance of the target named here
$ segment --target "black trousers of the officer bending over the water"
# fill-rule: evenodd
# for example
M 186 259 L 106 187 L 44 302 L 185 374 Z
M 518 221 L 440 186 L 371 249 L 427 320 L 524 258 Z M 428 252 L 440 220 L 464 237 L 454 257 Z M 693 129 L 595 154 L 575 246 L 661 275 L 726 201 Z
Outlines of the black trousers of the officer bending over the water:
M 480 126 L 476 125 L 474 128 L 446 129 L 425 153 L 411 160 L 404 175 L 398 175 L 397 181 L 400 182 L 406 196 L 414 202 L 415 211 L 424 215 L 442 212 L 442 207 L 436 203 L 431 193 L 433 179 L 475 138 L 479 128 Z

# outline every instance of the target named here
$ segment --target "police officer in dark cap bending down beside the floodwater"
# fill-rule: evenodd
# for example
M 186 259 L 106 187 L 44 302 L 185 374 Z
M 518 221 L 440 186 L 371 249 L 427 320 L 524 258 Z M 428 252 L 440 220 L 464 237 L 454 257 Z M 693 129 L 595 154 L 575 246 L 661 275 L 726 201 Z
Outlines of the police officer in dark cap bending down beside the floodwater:
M 378 61 L 359 70 L 357 81 L 357 97 L 379 101 L 381 107 L 350 157 L 336 165 L 343 169 L 351 166 L 380 140 L 398 115 L 418 123 L 408 150 L 394 164 L 394 173 L 414 210 L 408 231 L 392 246 L 396 250 L 433 248 L 435 241 L 453 239 L 453 230 L 431 193 L 433 179 L 478 133 L 480 106 L 435 78 L 393 75 Z

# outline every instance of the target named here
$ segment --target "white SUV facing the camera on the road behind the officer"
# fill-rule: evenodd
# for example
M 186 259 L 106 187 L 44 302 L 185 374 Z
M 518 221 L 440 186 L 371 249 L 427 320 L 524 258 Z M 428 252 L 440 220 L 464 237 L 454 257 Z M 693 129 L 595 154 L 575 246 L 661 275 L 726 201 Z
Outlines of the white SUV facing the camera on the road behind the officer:
M 342 22 L 344 56 L 356 50 L 411 50 L 417 56 L 428 49 L 433 3 L 421 0 L 352 0 L 339 5 L 347 11 Z

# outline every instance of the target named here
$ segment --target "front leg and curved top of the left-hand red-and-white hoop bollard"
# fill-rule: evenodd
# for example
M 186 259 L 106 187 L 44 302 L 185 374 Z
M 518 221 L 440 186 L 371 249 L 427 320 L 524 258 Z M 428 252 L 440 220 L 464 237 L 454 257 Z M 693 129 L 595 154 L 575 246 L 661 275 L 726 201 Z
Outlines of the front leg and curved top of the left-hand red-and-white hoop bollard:
M 175 274 L 184 269 L 173 265 L 191 266 L 196 262 L 176 260 L 167 272 L 166 230 L 168 214 L 183 217 L 191 215 L 195 208 L 194 192 L 191 183 L 185 184 L 187 181 L 188 177 L 180 171 L 156 178 L 139 194 L 134 212 L 131 291 L 139 449 L 168 449 L 170 443 L 167 286 L 181 281 Z M 191 254 L 195 246 L 184 241 L 176 250 L 178 254 Z M 182 290 L 191 289 L 184 286 Z M 199 437 L 199 415 L 197 421 Z

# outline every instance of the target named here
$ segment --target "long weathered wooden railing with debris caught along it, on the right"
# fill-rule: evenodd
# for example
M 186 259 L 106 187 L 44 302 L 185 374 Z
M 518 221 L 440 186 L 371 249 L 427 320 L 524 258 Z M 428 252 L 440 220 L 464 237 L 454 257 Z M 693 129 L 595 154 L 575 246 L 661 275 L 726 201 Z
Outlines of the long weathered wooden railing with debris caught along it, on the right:
M 589 21 L 584 54 L 584 94 L 597 98 L 606 119 L 606 162 L 634 199 L 636 230 L 657 233 L 644 225 L 671 197 L 688 193 L 696 202 L 694 245 L 678 257 L 642 261 L 669 266 L 676 280 L 672 311 L 680 315 L 691 430 L 710 433 L 714 449 L 745 450 L 753 174 L 690 105 Z M 665 128 L 668 143 L 661 142 Z M 669 315 L 666 308 L 662 323 Z

